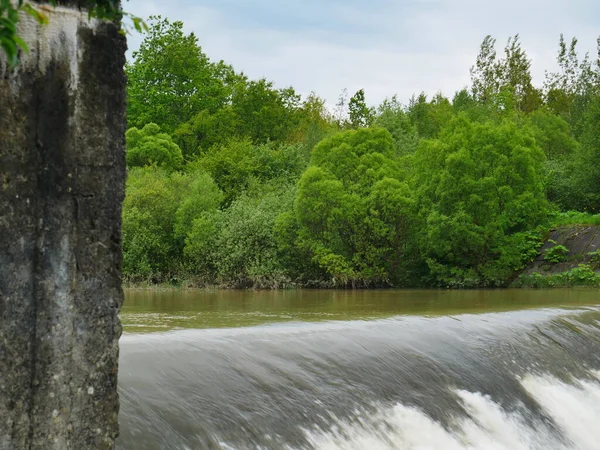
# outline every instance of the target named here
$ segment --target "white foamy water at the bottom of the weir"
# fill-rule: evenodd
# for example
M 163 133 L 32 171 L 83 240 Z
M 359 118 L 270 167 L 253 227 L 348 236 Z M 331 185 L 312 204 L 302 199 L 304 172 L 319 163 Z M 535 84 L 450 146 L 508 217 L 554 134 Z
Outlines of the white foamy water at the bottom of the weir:
M 566 384 L 544 376 L 521 383 L 554 421 L 556 434 L 519 412 L 507 413 L 485 395 L 456 391 L 468 417 L 457 418 L 451 431 L 419 409 L 398 404 L 352 423 L 337 421 L 327 431 L 307 431 L 307 437 L 318 450 L 600 449 L 599 383 Z

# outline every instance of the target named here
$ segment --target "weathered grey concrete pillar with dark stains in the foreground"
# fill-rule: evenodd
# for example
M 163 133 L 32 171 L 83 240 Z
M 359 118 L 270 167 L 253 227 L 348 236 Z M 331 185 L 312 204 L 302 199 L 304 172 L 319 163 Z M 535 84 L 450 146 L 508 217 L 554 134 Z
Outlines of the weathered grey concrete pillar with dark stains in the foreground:
M 77 2 L 62 2 L 73 5 Z M 0 449 L 118 433 L 125 39 L 71 7 L 0 56 Z

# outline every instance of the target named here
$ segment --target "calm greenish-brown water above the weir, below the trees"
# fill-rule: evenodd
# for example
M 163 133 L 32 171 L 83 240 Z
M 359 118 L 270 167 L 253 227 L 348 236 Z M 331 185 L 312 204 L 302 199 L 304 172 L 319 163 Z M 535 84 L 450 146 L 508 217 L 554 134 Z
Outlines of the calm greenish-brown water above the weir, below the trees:
M 273 322 L 372 320 L 396 315 L 440 316 L 542 307 L 580 307 L 599 301 L 597 289 L 577 290 L 129 290 L 124 331 L 224 328 Z

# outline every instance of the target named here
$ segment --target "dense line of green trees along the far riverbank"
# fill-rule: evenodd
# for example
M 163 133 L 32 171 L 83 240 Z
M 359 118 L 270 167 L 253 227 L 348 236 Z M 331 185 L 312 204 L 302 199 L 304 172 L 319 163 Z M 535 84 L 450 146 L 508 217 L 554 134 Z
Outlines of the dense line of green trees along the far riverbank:
M 600 213 L 600 40 L 560 36 L 534 86 L 518 36 L 471 84 L 333 111 L 211 61 L 151 17 L 127 64 L 124 275 L 194 286 L 504 286 L 552 220 Z

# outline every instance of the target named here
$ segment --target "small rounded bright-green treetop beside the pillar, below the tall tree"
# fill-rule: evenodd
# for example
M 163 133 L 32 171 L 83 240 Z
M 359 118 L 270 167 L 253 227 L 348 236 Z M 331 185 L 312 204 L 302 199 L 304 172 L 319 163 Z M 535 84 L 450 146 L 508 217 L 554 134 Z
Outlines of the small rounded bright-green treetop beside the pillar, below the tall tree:
M 141 130 L 130 128 L 125 137 L 129 167 L 157 165 L 168 170 L 181 167 L 181 149 L 173 142 L 171 136 L 161 133 L 155 123 L 149 123 Z

